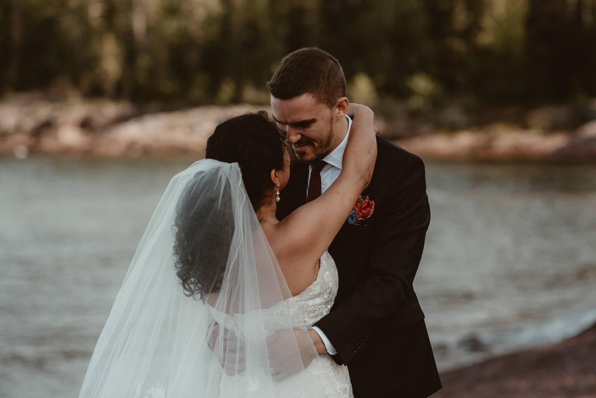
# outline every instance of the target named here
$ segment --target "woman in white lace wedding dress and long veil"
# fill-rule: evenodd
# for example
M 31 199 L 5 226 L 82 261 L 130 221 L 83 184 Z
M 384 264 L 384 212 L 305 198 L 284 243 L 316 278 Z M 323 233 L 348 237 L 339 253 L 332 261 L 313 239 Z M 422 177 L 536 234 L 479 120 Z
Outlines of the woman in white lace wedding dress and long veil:
M 282 221 L 284 138 L 264 111 L 218 125 L 207 159 L 157 205 L 80 398 L 352 396 L 347 367 L 317 354 L 309 331 L 337 293 L 327 248 L 376 159 L 373 112 L 350 106 L 341 174 Z

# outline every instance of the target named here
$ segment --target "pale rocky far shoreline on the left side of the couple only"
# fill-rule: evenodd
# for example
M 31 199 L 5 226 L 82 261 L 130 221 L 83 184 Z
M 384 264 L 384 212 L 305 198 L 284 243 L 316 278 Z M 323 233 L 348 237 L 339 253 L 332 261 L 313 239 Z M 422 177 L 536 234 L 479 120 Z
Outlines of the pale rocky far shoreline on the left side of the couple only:
M 235 105 L 147 112 L 127 101 L 20 98 L 0 103 L 0 155 L 196 155 L 204 152 L 219 122 L 255 109 Z

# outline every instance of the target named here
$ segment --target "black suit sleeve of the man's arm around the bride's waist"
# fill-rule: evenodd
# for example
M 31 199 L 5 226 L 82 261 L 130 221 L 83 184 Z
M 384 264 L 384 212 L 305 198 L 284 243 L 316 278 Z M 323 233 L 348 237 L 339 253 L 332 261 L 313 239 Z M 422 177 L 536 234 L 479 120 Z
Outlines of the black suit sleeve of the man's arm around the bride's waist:
M 412 288 L 430 222 L 424 163 L 408 153 L 394 169 L 393 178 L 383 181 L 388 184 L 384 203 L 375 203 L 368 276 L 316 323 L 336 348 L 338 363 L 349 363 L 379 329 L 405 327 L 408 319 L 413 323 L 424 317 Z M 419 310 L 419 319 L 412 319 L 412 307 Z

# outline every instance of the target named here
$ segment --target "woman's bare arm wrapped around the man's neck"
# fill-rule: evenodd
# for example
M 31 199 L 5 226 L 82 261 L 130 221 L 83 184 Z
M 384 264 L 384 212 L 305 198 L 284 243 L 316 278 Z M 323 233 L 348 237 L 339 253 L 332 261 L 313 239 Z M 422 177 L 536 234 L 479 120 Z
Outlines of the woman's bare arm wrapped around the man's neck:
M 284 236 L 283 252 L 294 260 L 316 261 L 327 250 L 373 175 L 377 159 L 374 113 L 364 105 L 354 108 L 339 177 L 319 198 L 294 210 L 278 226 Z

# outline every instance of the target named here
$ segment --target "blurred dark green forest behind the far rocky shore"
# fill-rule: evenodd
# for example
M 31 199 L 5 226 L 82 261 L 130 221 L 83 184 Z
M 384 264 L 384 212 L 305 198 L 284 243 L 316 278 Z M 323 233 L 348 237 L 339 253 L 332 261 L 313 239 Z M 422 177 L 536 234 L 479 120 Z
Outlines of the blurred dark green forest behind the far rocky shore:
M 280 58 L 313 45 L 368 101 L 596 95 L 596 0 L 0 0 L 0 95 L 267 103 Z

